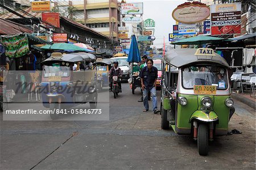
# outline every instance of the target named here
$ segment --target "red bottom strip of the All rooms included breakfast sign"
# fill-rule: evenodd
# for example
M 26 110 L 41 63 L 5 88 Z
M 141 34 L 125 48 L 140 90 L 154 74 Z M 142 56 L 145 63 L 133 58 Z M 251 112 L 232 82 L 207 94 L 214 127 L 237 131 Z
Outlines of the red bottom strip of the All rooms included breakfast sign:
M 221 35 L 221 34 L 240 34 L 241 25 L 236 26 L 215 26 L 211 27 L 212 35 Z

